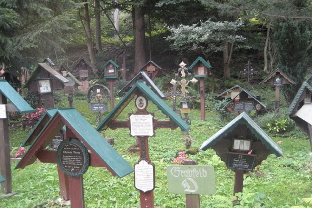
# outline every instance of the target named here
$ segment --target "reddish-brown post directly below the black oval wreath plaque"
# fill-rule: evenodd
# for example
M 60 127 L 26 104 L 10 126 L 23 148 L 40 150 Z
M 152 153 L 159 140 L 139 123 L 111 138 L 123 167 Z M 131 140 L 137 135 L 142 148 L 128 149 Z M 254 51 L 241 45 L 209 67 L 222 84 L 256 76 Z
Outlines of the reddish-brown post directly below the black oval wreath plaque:
M 69 177 L 69 189 L 71 207 L 84 208 L 85 195 L 83 191 L 83 176 Z

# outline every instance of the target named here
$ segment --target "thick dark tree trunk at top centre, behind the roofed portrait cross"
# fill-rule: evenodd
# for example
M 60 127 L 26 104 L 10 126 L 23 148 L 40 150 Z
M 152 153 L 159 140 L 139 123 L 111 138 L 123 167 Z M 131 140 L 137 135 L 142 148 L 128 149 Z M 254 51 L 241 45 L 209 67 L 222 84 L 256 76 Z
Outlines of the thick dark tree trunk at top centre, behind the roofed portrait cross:
M 142 7 L 133 7 L 133 28 L 134 28 L 134 71 L 136 75 L 146 64 L 145 51 L 145 22 Z

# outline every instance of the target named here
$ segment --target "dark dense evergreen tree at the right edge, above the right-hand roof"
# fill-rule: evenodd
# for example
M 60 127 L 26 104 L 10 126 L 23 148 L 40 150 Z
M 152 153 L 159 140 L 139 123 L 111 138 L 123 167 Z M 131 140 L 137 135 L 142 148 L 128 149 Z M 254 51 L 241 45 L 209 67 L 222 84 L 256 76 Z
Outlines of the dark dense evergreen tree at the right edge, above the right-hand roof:
M 311 51 L 308 50 L 312 37 L 310 27 L 309 22 L 305 24 L 280 22 L 275 25 L 278 68 L 296 82 L 296 85 L 285 85 L 282 88 L 288 102 L 295 97 L 310 65 Z

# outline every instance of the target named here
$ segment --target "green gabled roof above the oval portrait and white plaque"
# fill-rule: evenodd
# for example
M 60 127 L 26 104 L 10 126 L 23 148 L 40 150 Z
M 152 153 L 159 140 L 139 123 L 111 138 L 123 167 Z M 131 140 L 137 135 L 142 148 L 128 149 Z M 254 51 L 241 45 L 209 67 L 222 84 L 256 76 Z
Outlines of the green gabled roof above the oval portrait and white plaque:
M 96 128 L 98 131 L 102 131 L 108 128 L 108 123 L 111 120 L 117 118 L 117 116 L 124 110 L 129 102 L 134 98 L 135 92 L 139 90 L 149 100 L 151 100 L 163 114 L 167 115 L 170 120 L 178 125 L 182 131 L 188 131 L 190 127 L 188 124 L 180 118 L 161 98 L 159 98 L 142 80 L 138 80 L 135 85 L 129 90 L 129 92 L 120 100 L 115 108 L 106 116 L 106 118 Z

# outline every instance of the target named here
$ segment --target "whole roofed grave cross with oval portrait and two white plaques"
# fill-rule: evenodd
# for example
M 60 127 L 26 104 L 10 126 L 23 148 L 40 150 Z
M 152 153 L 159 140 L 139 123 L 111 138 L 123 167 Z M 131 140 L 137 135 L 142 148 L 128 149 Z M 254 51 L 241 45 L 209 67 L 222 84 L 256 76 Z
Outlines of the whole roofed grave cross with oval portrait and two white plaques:
M 128 121 L 116 121 L 117 116 L 136 96 L 135 106 L 137 111 L 129 116 Z M 169 117 L 169 121 L 157 121 L 153 113 L 147 111 L 148 102 L 151 100 Z M 149 157 L 148 138 L 155 136 L 157 128 L 180 127 L 188 132 L 189 126 L 162 99 L 158 97 L 142 80 L 128 91 L 115 108 L 96 128 L 98 131 L 111 128 L 129 128 L 130 136 L 139 138 L 140 158 L 134 164 L 135 187 L 140 191 L 141 208 L 154 208 L 155 167 Z

